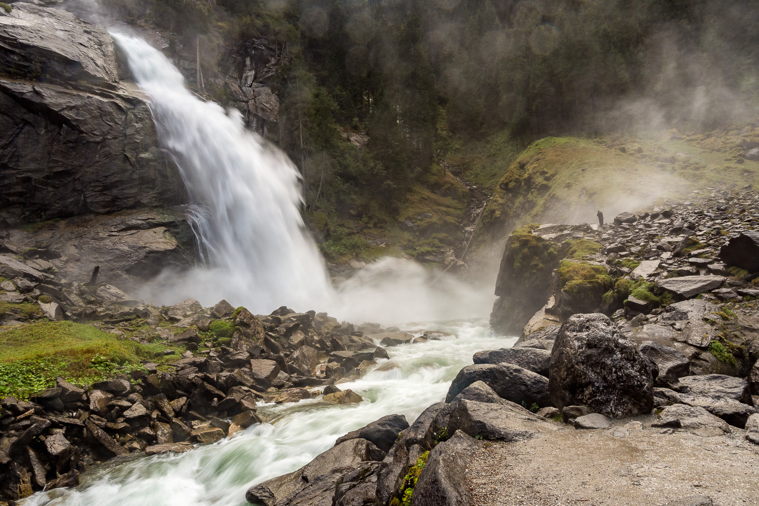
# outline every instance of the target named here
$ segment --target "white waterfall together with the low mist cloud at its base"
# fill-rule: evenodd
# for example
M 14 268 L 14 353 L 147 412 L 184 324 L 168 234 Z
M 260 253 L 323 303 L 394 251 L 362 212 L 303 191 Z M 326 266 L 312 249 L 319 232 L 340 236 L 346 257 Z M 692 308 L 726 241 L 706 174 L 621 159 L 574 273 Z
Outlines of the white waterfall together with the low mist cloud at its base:
M 113 34 L 137 83 L 150 97 L 159 142 L 175 159 L 198 212 L 194 229 L 203 266 L 163 272 L 138 294 L 173 304 L 221 299 L 268 314 L 285 305 L 352 322 L 384 325 L 487 316 L 490 287 L 475 291 L 416 262 L 383 259 L 338 290 L 304 231 L 298 170 L 278 149 L 245 130 L 237 111 L 203 102 L 161 52 Z

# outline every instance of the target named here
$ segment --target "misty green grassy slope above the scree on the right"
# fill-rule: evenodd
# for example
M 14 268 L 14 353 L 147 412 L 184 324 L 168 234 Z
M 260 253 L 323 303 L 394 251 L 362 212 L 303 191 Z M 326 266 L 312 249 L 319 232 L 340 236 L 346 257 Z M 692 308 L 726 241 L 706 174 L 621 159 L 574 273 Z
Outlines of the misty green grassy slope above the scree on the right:
M 597 210 L 610 221 L 622 211 L 687 198 L 693 190 L 756 185 L 759 162 L 737 163 L 744 151 L 735 148 L 741 138 L 759 140 L 759 130 L 538 140 L 515 157 L 499 181 L 477 244 L 499 240 L 524 223 L 595 222 Z

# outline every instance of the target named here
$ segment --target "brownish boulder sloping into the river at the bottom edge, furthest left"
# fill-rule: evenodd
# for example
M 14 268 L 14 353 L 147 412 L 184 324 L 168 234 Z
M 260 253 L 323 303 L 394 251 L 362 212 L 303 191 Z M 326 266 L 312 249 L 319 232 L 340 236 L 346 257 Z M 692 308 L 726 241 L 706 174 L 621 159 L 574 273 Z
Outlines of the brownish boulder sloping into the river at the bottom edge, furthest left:
M 256 506 L 332 506 L 335 486 L 347 473 L 367 460 L 382 460 L 384 456 L 366 439 L 351 439 L 317 455 L 297 471 L 251 487 L 245 499 Z

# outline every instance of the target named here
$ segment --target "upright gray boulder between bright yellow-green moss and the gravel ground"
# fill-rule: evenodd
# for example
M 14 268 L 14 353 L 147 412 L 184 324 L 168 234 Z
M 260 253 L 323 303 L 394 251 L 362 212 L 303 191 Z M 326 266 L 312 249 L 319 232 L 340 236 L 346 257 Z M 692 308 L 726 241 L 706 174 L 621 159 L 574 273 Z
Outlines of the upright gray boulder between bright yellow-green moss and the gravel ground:
M 476 439 L 456 431 L 453 437 L 437 445 L 414 487 L 411 506 L 465 506 L 472 495 L 466 479 L 466 468 L 474 454 L 482 448 Z

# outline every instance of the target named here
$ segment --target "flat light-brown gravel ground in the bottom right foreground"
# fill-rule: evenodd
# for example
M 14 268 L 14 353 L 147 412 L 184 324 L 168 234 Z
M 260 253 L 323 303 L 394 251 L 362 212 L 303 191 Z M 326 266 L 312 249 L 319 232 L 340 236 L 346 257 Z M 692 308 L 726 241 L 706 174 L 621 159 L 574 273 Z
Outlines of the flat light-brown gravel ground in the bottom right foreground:
M 759 446 L 745 432 L 703 438 L 651 429 L 561 426 L 528 442 L 485 445 L 468 470 L 477 506 L 759 504 Z M 624 429 L 624 427 L 628 429 Z

